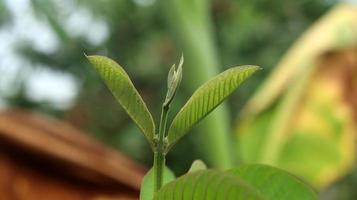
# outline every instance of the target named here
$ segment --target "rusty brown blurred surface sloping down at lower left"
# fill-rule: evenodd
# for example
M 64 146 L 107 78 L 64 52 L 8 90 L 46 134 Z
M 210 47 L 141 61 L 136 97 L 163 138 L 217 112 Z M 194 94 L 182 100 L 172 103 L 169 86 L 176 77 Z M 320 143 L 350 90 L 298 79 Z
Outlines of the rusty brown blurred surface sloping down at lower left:
M 137 199 L 144 174 L 64 122 L 0 113 L 0 200 Z

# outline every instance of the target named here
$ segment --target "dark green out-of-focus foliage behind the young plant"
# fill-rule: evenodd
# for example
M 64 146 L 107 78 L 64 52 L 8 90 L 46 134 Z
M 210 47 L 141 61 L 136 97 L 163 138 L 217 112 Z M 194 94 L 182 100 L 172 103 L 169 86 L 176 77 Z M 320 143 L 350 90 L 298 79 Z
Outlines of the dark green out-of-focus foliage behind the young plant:
M 63 1 L 71 2 L 66 6 L 61 1 L 31 0 L 30 5 L 37 20 L 54 31 L 60 45 L 54 51 L 44 52 L 33 48 L 31 41 L 24 38 L 17 42 L 18 55 L 34 67 L 42 65 L 71 73 L 78 79 L 80 91 L 73 107 L 59 110 L 46 102 L 28 99 L 24 95 L 25 81 L 19 78 L 20 87 L 7 97 L 7 102 L 12 106 L 41 110 L 64 118 L 149 165 L 152 159 L 149 145 L 95 72 L 88 67 L 83 52 L 106 55 L 127 66 L 125 70 L 148 102 L 157 121 L 157 111 L 160 110 L 166 90 L 166 74 L 182 52 L 175 33 L 180 27 L 168 25 L 166 18 L 170 13 L 162 11 L 162 1 Z M 216 62 L 226 67 L 256 64 L 265 69 L 230 99 L 229 114 L 233 116 L 289 45 L 334 2 L 214 0 L 206 3 L 209 4 L 212 35 L 217 47 L 215 56 L 219 61 Z M 0 1 L 0 24 L 8 22 L 11 25 L 12 16 L 4 5 Z M 93 20 L 95 23 L 98 19 L 105 22 L 109 33 L 103 42 L 94 44 L 84 35 L 74 34 L 64 28 L 69 16 L 82 10 L 89 13 L 83 16 L 83 20 Z M 195 78 L 192 75 L 188 77 Z M 185 81 L 189 82 L 184 76 Z M 172 110 L 183 105 L 191 93 L 189 86 L 180 88 Z M 202 155 L 202 150 L 196 147 L 201 141 L 195 135 L 185 138 L 180 147 L 168 155 L 167 163 L 177 174 L 184 172 L 192 160 Z M 187 150 L 190 151 L 189 155 L 185 153 Z

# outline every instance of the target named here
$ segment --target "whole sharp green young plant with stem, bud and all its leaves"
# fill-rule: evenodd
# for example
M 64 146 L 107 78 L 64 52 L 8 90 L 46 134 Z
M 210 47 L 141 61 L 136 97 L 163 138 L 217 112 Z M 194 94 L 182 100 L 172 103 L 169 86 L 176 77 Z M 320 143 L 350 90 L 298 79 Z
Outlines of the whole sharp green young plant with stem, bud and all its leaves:
M 157 130 L 151 113 L 124 69 L 104 56 L 87 58 L 150 143 L 154 163 L 144 177 L 140 192 L 141 200 L 317 199 L 315 192 L 298 178 L 266 165 L 242 165 L 228 171 L 218 171 L 206 169 L 202 162 L 197 161 L 192 164 L 188 173 L 177 179 L 165 166 L 165 156 L 169 150 L 256 72 L 258 66 L 232 67 L 207 81 L 193 93 L 167 126 L 170 104 L 182 79 L 184 60 L 181 57 L 178 66 L 173 65 L 168 74 L 167 94 L 162 104 Z

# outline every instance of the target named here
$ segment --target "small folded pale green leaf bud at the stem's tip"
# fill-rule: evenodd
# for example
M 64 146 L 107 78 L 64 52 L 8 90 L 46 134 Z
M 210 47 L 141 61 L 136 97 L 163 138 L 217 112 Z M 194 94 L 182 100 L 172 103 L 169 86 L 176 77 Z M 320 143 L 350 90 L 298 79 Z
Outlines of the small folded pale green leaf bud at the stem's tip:
M 182 65 L 184 58 L 181 56 L 180 63 L 176 70 L 176 65 L 172 65 L 169 74 L 167 76 L 167 94 L 164 102 L 164 106 L 168 106 L 174 98 L 176 91 L 180 85 L 182 79 Z

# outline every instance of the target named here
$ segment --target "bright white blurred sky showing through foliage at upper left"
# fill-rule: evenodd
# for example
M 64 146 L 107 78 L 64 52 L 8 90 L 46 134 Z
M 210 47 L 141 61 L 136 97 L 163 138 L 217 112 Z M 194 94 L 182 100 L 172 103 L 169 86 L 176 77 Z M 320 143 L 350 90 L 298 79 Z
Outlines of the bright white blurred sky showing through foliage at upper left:
M 84 37 L 92 45 L 100 45 L 109 36 L 104 20 L 85 8 L 77 8 L 71 0 L 54 0 L 57 10 L 66 15 L 61 25 L 71 36 Z M 26 84 L 26 96 L 36 102 L 47 102 L 59 109 L 69 108 L 79 90 L 74 76 L 32 64 L 17 55 L 18 41 L 30 41 L 31 47 L 41 52 L 55 52 L 59 40 L 46 21 L 34 15 L 29 0 L 5 0 L 12 22 L 0 28 L 0 107 L 1 96 L 11 96 L 21 75 Z M 61 14 L 61 13 L 60 13 Z M 61 16 L 62 17 L 62 16 Z M 26 72 L 26 75 L 24 73 Z

